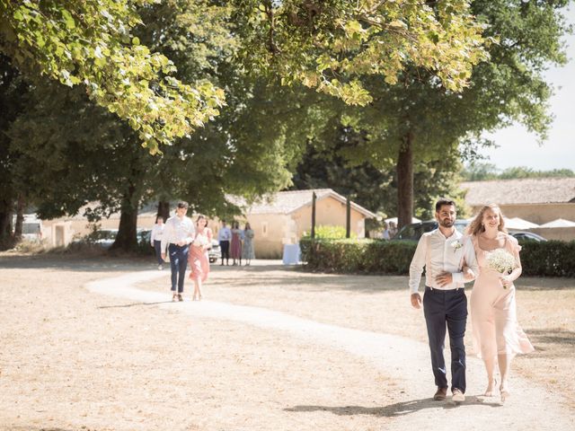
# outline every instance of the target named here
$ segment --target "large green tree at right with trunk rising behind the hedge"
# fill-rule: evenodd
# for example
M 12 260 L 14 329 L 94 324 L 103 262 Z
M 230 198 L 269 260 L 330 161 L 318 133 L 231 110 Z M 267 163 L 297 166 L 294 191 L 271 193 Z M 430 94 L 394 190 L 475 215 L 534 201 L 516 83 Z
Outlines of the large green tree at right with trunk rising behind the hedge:
M 473 156 L 490 145 L 482 141 L 483 131 L 518 121 L 545 136 L 552 88 L 543 72 L 566 61 L 561 40 L 569 27 L 562 7 L 568 3 L 474 1 L 473 13 L 488 24 L 486 37 L 499 43 L 489 47 L 489 62 L 473 66 L 463 92 L 446 91 L 433 71 L 412 65 L 395 85 L 382 85 L 376 76 L 365 80 L 373 98 L 365 107 L 331 105 L 326 112 L 333 118 L 330 130 L 337 130 L 339 121 L 363 136 L 339 149 L 346 161 L 371 163 L 380 171 L 395 168 L 400 224 L 411 223 L 417 176 L 430 166 L 453 169 L 454 163 L 445 161 Z M 318 138 L 333 142 L 327 136 Z

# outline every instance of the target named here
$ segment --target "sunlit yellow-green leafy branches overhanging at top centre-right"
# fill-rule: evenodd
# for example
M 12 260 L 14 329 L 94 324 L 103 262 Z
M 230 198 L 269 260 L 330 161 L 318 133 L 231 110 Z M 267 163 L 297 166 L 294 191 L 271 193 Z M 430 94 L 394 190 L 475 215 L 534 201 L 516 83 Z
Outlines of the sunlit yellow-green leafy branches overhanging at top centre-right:
M 275 71 L 349 104 L 372 96 L 362 83 L 378 75 L 396 84 L 405 66 L 435 71 L 452 91 L 488 57 L 482 24 L 467 0 L 236 0 L 236 19 L 250 29 L 243 61 Z

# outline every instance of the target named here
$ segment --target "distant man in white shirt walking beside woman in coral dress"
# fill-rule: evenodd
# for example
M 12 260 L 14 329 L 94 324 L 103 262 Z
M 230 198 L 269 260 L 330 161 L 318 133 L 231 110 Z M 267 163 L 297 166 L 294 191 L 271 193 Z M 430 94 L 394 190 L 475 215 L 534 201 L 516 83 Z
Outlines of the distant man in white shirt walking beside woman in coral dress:
M 170 268 L 172 269 L 172 301 L 183 301 L 183 282 L 188 268 L 190 243 L 194 241 L 196 229 L 188 212 L 187 202 L 178 202 L 176 215 L 165 222 L 162 236 L 162 259 L 165 259 L 165 248 L 170 253 Z M 176 295 L 176 286 L 178 294 Z

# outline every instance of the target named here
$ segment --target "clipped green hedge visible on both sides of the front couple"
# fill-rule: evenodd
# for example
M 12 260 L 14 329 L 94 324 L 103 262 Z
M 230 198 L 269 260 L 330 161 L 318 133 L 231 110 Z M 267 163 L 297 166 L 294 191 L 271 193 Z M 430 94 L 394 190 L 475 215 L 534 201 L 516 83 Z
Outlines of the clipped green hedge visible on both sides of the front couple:
M 520 242 L 523 275 L 575 277 L 575 242 Z M 384 240 L 302 239 L 302 260 L 312 270 L 409 274 L 417 242 Z

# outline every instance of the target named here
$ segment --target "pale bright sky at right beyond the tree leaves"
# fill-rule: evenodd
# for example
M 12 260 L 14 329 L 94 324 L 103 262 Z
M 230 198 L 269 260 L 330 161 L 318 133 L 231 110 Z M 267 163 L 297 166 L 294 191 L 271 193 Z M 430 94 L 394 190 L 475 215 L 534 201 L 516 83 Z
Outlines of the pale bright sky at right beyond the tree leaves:
M 575 6 L 565 13 L 567 22 L 575 24 Z M 504 170 L 515 166 L 526 166 L 535 171 L 571 169 L 575 171 L 575 35 L 565 37 L 569 63 L 563 67 L 550 67 L 545 73 L 547 82 L 555 91 L 550 99 L 553 124 L 543 145 L 537 143 L 537 136 L 521 125 L 486 133 L 484 137 L 493 140 L 499 148 L 483 150 L 489 157 L 484 162 Z

